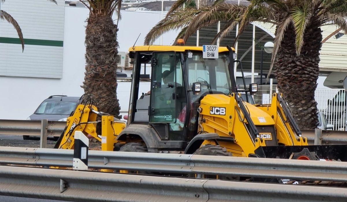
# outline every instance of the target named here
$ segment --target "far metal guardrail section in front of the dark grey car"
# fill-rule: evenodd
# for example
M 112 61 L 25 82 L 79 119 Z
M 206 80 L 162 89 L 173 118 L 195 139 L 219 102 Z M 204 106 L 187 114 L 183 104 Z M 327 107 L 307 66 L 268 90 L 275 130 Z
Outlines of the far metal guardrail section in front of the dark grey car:
M 0 134 L 40 136 L 42 131 L 46 132 L 48 137 L 59 137 L 65 126 L 65 121 L 48 121 L 45 126 L 42 121 L 1 119 Z

